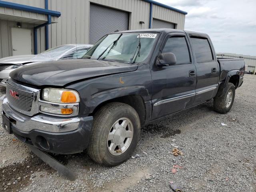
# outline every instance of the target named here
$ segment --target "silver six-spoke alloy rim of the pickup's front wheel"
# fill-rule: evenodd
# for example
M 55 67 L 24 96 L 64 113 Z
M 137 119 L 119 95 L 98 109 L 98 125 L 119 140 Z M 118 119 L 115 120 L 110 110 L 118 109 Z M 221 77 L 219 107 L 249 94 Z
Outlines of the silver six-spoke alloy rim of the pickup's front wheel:
M 108 132 L 107 146 L 110 154 L 118 156 L 125 152 L 133 138 L 134 128 L 128 118 L 120 118 L 110 128 Z

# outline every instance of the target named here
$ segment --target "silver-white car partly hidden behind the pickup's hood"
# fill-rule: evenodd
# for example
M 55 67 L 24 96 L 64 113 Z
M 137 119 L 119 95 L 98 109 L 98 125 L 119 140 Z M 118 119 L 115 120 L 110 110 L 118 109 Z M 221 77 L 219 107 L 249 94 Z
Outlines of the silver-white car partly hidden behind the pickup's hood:
M 10 72 L 16 68 L 64 59 L 79 59 L 90 49 L 90 44 L 66 44 L 48 49 L 37 55 L 20 55 L 0 59 L 0 86 L 6 86 Z

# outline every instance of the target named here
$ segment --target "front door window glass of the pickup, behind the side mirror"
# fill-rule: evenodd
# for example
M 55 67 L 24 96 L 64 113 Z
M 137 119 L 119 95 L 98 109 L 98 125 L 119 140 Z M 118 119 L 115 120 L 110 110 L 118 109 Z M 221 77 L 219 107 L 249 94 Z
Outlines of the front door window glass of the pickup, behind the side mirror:
M 164 53 L 172 52 L 176 56 L 176 64 L 190 63 L 188 44 L 185 37 L 170 37 L 164 46 Z

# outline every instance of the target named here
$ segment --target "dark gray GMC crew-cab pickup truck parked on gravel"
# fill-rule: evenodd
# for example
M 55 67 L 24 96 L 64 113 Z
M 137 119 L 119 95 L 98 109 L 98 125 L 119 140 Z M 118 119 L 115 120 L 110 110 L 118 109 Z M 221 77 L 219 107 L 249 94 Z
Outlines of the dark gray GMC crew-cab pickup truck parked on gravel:
M 3 127 L 40 150 L 87 149 L 100 164 L 128 159 L 140 127 L 214 99 L 228 112 L 243 83 L 244 61 L 218 59 L 207 34 L 132 30 L 101 38 L 80 60 L 14 70 Z

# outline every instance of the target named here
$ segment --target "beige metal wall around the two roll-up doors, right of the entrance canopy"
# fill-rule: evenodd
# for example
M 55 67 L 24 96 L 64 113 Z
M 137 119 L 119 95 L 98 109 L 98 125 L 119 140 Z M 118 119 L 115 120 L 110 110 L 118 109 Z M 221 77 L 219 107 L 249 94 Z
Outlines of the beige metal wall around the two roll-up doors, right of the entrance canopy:
M 149 26 L 150 3 L 143 0 L 49 0 L 49 9 L 61 12 L 58 23 L 49 26 L 49 47 L 76 43 L 75 36 L 77 43 L 89 43 L 90 2 L 129 12 L 130 30 Z M 175 28 L 184 29 L 185 15 L 182 13 L 153 5 L 153 18 L 175 23 Z

